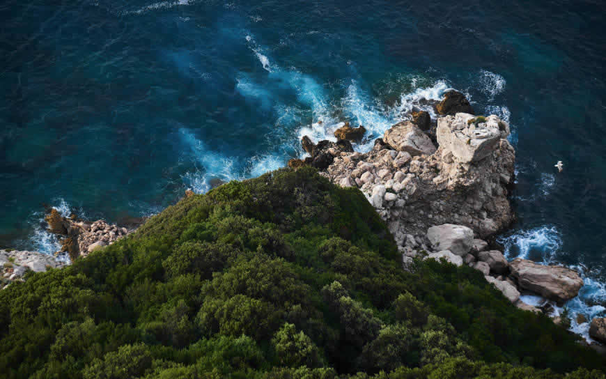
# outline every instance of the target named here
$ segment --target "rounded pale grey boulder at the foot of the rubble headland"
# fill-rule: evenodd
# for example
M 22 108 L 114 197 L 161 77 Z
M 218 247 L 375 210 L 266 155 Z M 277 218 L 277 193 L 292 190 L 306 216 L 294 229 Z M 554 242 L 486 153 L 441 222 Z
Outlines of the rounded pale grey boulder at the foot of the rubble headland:
M 465 256 L 472 249 L 474 231 L 467 226 L 442 224 L 430 227 L 427 238 L 434 250 L 449 250 L 458 256 Z

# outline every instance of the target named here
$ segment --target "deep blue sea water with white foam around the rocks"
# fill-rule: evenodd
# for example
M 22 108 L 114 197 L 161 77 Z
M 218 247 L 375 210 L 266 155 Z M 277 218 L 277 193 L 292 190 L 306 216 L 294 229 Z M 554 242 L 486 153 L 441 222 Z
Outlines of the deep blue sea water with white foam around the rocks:
M 370 143 L 411 100 L 457 88 L 513 128 L 508 256 L 574 265 L 586 286 L 570 307 L 604 315 L 604 15 L 601 1 L 4 1 L 0 245 L 54 251 L 42 203 L 150 215 L 282 167 L 341 121 Z

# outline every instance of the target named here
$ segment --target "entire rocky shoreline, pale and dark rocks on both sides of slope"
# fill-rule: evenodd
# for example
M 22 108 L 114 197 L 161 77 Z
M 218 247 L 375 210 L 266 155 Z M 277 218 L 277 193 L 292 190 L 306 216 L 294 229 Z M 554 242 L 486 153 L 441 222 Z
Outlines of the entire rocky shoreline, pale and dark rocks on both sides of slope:
M 410 121 L 389 128 L 368 153 L 352 147 L 364 136 L 363 126 L 345 123 L 334 132 L 336 141 L 313 144 L 303 137 L 309 157 L 290 160 L 288 166 L 309 164 L 333 183 L 362 191 L 394 235 L 405 270 L 412 270 L 415 259 L 465 264 L 479 270 L 516 307 L 561 322 L 549 309 L 522 302 L 520 295 L 534 293 L 564 304 L 583 286 L 580 275 L 520 258 L 508 262 L 495 245 L 495 235 L 515 219 L 508 201 L 515 163 L 515 150 L 506 139 L 508 123 L 495 115 L 474 116 L 465 96 L 456 91 L 447 92 L 433 107 L 437 120 L 414 109 Z M 49 209 L 45 221 L 48 231 L 59 235 L 61 250 L 56 256 L 0 250 L 0 289 L 24 280 L 28 271 L 69 264 L 57 257 L 61 254 L 74 261 L 137 229 L 63 217 L 56 209 Z M 594 318 L 589 333 L 606 343 L 606 319 Z

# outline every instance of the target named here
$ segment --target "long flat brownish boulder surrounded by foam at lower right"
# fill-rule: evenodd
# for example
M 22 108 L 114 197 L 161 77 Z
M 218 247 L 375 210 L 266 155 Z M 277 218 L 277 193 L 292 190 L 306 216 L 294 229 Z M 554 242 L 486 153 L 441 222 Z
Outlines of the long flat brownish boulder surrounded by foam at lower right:
M 577 296 L 583 286 L 583 279 L 577 272 L 561 266 L 540 265 L 516 258 L 509 263 L 509 268 L 520 288 L 557 302 L 566 302 Z

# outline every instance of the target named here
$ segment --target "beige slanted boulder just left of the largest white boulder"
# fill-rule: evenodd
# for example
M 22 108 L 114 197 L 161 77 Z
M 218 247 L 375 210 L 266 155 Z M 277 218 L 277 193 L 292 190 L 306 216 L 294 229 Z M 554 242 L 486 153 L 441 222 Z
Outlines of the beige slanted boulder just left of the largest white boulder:
M 412 156 L 435 153 L 435 146 L 428 135 L 410 121 L 389 128 L 383 140 L 394 150 L 405 151 Z

